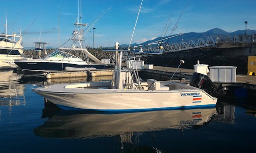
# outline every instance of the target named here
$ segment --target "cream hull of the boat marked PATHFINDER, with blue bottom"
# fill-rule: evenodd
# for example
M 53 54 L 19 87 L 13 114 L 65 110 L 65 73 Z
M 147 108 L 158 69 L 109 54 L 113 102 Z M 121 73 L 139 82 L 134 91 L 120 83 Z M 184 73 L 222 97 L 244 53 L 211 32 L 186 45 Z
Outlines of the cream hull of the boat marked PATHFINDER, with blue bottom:
M 81 92 L 79 92 L 81 90 Z M 217 98 L 203 90 L 111 90 L 77 89 L 73 92 L 52 92 L 47 88 L 36 88 L 34 92 L 65 110 L 99 111 L 147 111 L 167 109 L 193 109 L 214 107 Z

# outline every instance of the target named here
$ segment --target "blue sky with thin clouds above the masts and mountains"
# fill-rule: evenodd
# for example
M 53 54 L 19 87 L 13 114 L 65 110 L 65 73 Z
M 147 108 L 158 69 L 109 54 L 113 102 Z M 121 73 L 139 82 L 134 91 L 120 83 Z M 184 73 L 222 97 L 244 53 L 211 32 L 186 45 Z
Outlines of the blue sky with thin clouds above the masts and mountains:
M 80 0 L 79 0 L 80 1 Z M 141 0 L 82 0 L 82 22 L 92 24 L 95 47 L 113 46 L 116 41 L 128 44 L 131 39 Z M 187 6 L 187 7 L 186 7 Z M 77 17 L 78 0 L 2 0 L 0 32 L 8 34 L 21 28 L 24 47 L 33 42 L 58 46 L 58 8 L 60 8 L 60 44 L 71 37 Z M 186 8 L 185 8 L 186 7 Z M 205 32 L 219 27 L 227 32 L 256 30 L 256 0 L 143 0 L 132 43 L 141 43 L 162 34 L 169 16 L 173 17 L 167 35 L 181 15 L 173 34 Z M 172 13 L 173 12 L 173 13 Z M 93 46 L 93 34 L 86 34 L 86 44 Z

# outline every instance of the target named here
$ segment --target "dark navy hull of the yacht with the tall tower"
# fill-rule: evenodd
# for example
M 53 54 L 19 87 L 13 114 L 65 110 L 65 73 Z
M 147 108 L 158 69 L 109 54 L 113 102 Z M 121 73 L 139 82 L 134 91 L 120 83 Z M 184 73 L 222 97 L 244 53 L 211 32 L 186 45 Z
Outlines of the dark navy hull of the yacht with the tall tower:
M 61 71 L 65 67 L 72 68 L 96 68 L 102 69 L 106 66 L 104 64 L 73 64 L 65 62 L 46 62 L 46 61 L 15 61 L 19 68 L 26 71 Z

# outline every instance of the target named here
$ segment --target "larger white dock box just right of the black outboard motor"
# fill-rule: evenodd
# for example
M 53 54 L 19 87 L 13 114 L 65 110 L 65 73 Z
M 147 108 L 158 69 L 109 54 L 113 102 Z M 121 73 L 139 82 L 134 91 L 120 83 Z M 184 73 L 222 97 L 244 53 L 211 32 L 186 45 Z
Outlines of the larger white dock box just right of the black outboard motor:
M 236 82 L 237 67 L 216 66 L 210 68 L 210 79 L 212 82 Z

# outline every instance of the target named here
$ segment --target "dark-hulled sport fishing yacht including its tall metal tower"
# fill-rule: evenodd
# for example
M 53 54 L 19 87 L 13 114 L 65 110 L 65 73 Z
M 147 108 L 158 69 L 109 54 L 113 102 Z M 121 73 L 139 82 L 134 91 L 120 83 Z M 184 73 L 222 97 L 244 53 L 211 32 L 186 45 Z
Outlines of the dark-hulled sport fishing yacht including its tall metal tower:
M 15 61 L 23 71 L 61 71 L 83 68 L 102 69 L 106 65 L 93 56 L 85 47 L 84 34 L 91 28 L 77 20 L 72 37 L 45 58 Z M 85 31 L 86 30 L 86 31 Z M 39 42 L 36 42 L 39 43 Z M 65 46 L 66 47 L 65 47 Z

